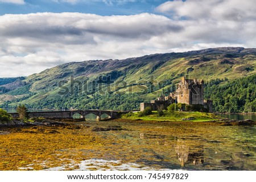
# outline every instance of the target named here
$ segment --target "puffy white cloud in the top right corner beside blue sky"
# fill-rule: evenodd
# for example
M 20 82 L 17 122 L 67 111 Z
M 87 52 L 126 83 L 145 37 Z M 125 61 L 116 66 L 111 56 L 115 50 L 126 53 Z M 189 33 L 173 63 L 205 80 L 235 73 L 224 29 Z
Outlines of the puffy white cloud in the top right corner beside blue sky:
M 172 15 L 175 19 L 238 20 L 256 19 L 254 0 L 187 0 L 168 1 L 156 11 Z

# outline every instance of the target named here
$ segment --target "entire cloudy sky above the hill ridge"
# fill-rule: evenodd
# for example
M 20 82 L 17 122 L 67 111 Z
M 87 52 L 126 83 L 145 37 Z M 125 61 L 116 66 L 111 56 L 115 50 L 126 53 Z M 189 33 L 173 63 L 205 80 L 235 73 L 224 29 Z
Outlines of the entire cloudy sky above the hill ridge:
M 0 77 L 72 61 L 256 48 L 255 29 L 255 0 L 0 0 Z

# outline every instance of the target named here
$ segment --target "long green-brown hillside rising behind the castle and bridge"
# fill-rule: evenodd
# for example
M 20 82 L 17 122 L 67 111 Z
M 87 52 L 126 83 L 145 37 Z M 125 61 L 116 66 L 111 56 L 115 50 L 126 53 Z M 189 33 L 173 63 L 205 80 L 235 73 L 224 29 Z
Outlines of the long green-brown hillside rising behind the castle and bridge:
M 254 74 L 256 49 L 233 47 L 151 54 L 125 60 L 70 62 L 28 76 L 22 84 L 5 93 L 24 97 L 9 99 L 2 107 L 24 103 L 31 108 L 138 109 L 140 102 L 168 94 L 184 75 L 205 81 L 220 79 L 217 84 L 224 85 Z M 64 93 L 66 87 L 70 87 L 71 77 L 75 87 Z M 92 84 L 84 89 L 85 82 Z

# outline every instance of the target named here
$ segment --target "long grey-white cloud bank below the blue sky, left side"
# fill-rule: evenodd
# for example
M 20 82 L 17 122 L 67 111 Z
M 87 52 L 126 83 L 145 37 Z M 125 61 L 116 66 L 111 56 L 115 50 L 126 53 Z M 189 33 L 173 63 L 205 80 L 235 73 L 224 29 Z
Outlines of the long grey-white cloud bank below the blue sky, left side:
M 44 69 L 69 61 L 141 56 L 150 53 L 143 49 L 152 37 L 182 29 L 165 16 L 154 14 L 7 14 L 0 16 L 0 62 L 27 65 L 29 75 L 40 65 Z M 24 74 L 20 70 L 14 73 Z M 7 77 L 10 73 L 1 74 Z

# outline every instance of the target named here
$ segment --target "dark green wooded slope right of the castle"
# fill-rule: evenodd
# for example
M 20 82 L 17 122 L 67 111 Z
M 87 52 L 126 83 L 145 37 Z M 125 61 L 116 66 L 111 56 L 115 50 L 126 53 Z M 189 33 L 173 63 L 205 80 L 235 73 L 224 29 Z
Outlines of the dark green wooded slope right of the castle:
M 205 85 L 205 97 L 216 112 L 256 112 L 256 74 L 232 82 L 214 79 Z

